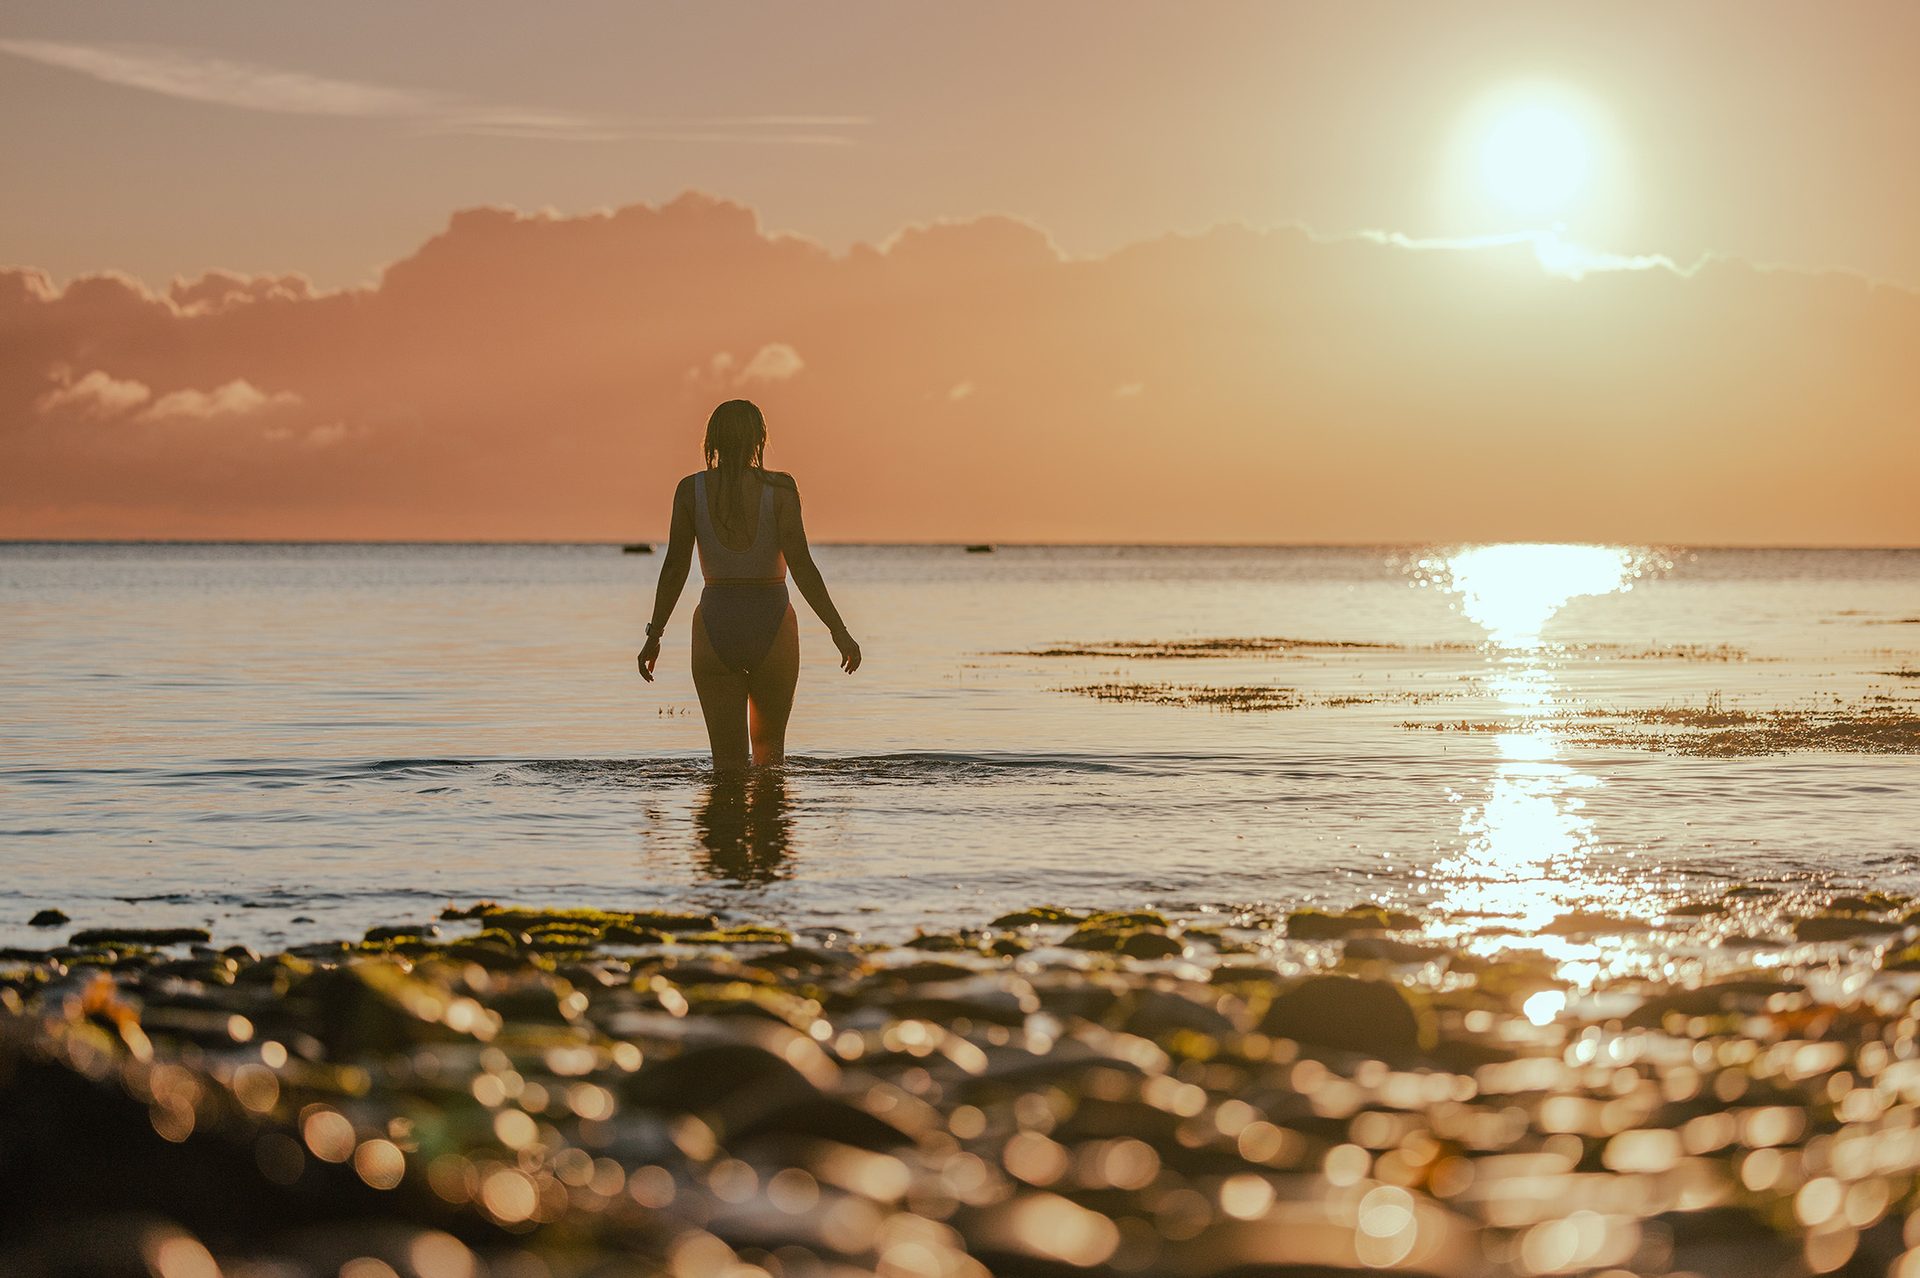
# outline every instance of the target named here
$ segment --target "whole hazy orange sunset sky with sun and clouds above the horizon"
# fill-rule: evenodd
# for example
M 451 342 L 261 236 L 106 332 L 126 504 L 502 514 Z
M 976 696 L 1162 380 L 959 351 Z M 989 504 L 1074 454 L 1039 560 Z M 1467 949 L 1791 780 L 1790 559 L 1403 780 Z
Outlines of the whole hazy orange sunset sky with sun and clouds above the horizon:
M 1920 8 L 0 15 L 0 535 L 1920 543 Z

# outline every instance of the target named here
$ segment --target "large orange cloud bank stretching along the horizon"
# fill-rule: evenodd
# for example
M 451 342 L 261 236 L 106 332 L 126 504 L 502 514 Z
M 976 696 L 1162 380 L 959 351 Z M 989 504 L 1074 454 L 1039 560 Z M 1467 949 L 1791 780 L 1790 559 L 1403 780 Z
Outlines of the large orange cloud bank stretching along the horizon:
M 0 537 L 657 537 L 745 391 L 820 537 L 1920 543 L 1920 294 L 1580 272 L 1016 219 L 833 253 L 701 194 L 463 209 L 338 292 L 0 269 Z M 927 413 L 960 384 L 993 411 Z

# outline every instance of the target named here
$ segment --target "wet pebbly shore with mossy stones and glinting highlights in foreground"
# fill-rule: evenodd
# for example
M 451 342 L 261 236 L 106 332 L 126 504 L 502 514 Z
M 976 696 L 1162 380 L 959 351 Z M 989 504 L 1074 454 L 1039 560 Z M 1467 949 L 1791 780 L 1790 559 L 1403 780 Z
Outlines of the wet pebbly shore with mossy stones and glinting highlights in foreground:
M 1766 967 L 1584 986 L 1375 904 L 90 929 L 0 958 L 0 1272 L 1910 1272 L 1920 917 L 1818 906 Z

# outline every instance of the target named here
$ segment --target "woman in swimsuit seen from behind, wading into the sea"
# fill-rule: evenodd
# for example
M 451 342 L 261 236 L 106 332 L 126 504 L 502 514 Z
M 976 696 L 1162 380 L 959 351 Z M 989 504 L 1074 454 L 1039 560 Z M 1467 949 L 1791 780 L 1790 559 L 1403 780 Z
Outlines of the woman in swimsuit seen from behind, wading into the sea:
M 707 587 L 693 608 L 693 687 L 707 716 L 714 768 L 737 771 L 787 758 L 787 714 L 801 677 L 801 627 L 787 603 L 787 570 L 828 624 L 841 670 L 860 668 L 860 645 L 847 633 L 828 583 L 820 580 L 801 526 L 793 476 L 766 470 L 766 418 L 747 399 L 728 399 L 707 418 L 707 468 L 674 489 L 674 528 L 647 622 L 639 674 L 653 683 L 666 618 L 680 603 L 701 551 Z

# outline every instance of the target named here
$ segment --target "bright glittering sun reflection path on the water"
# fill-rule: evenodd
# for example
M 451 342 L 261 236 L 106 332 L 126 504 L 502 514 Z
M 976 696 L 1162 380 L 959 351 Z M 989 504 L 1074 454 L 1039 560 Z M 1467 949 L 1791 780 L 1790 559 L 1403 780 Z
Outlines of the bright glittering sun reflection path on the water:
M 1494 735 L 1498 758 L 1484 796 L 1461 812 L 1461 852 L 1430 869 L 1434 904 L 1461 933 L 1526 936 L 1571 910 L 1622 910 L 1622 885 L 1592 869 L 1599 840 L 1584 793 L 1601 781 L 1561 758 L 1546 718 L 1563 689 L 1542 631 L 1571 599 L 1632 589 L 1634 578 L 1657 568 L 1655 556 L 1626 547 L 1484 545 L 1419 568 L 1486 629 L 1488 691 L 1513 718 L 1511 731 Z M 1588 946 L 1542 942 L 1553 958 L 1596 958 Z

